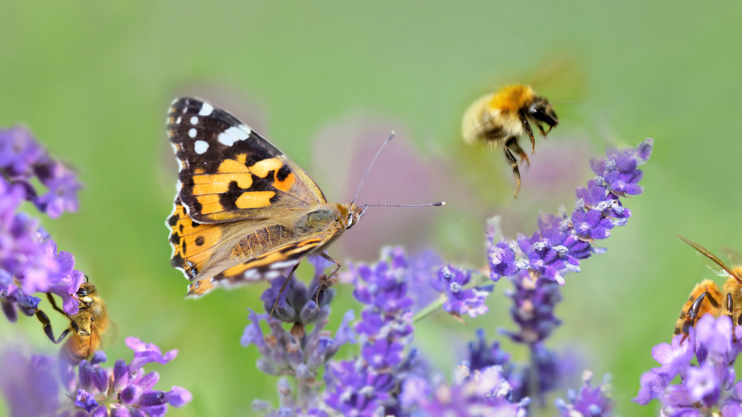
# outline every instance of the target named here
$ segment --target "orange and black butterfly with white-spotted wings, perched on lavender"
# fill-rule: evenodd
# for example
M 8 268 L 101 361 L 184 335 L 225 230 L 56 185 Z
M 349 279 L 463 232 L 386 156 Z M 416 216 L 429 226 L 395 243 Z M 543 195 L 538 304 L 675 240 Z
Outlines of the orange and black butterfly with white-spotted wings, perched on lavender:
M 171 265 L 194 281 L 188 295 L 278 278 L 322 254 L 366 209 L 327 203 L 299 165 L 209 103 L 175 100 L 168 136 L 180 172 L 166 226 Z

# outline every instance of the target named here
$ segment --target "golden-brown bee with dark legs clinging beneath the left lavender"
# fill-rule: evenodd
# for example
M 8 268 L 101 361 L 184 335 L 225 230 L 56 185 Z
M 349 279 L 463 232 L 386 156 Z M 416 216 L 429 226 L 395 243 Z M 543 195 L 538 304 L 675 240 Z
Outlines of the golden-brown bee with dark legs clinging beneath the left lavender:
M 47 315 L 42 310 L 36 311 L 36 318 L 42 322 L 44 332 L 53 343 L 59 344 L 71 332 L 70 338 L 67 339 L 60 352 L 60 356 L 70 364 L 79 364 L 83 359 L 90 358 L 93 352 L 100 347 L 101 336 L 108 328 L 108 309 L 96 293 L 96 286 L 88 282 L 82 283 L 77 290 L 79 312 L 75 315 L 67 315 L 56 306 L 51 294 L 47 294 L 53 309 L 62 312 L 70 320 L 70 327 L 65 329 L 59 338 L 54 338 Z

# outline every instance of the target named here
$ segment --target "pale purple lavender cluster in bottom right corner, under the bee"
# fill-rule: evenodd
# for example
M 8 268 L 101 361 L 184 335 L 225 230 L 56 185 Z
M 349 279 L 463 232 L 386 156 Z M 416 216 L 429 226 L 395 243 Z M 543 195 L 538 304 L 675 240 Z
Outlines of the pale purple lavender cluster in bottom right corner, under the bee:
M 740 352 L 742 326 L 732 326 L 726 315 L 703 315 L 688 335 L 652 349 L 660 366 L 643 373 L 634 401 L 659 400 L 662 416 L 742 416 L 742 381 L 734 367 Z

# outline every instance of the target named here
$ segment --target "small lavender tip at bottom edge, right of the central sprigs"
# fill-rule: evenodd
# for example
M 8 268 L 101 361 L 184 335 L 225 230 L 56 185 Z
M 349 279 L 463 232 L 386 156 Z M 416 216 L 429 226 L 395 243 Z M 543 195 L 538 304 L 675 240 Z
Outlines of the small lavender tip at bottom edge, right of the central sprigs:
M 597 387 L 590 386 L 592 372 L 585 371 L 582 374 L 582 387 L 579 392 L 567 391 L 568 401 L 557 398 L 554 404 L 562 411 L 562 417 L 589 416 L 607 417 L 611 416 L 614 402 L 611 399 L 611 375 L 603 375 L 603 384 Z

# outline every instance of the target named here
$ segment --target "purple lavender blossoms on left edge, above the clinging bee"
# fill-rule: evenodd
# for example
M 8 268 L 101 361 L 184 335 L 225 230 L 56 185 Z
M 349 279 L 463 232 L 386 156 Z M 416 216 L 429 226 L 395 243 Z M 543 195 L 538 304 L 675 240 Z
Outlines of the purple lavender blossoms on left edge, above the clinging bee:
M 47 187 L 41 194 L 33 180 Z M 78 311 L 75 293 L 85 279 L 74 269 L 70 252 L 57 252 L 56 243 L 39 220 L 19 211 L 24 201 L 58 217 L 77 209 L 76 175 L 53 160 L 25 128 L 0 131 L 0 304 L 10 321 L 16 309 L 36 312 L 36 293 L 62 298 L 62 309 Z

